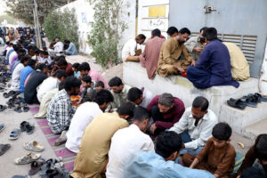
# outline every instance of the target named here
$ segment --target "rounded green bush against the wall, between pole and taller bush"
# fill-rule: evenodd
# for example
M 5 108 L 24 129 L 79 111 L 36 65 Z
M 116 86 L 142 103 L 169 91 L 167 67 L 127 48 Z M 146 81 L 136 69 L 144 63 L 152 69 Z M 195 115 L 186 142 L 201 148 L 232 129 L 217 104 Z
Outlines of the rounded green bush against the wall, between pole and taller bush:
M 54 10 L 44 19 L 44 32 L 50 41 L 55 37 L 68 39 L 79 49 L 75 9 Z

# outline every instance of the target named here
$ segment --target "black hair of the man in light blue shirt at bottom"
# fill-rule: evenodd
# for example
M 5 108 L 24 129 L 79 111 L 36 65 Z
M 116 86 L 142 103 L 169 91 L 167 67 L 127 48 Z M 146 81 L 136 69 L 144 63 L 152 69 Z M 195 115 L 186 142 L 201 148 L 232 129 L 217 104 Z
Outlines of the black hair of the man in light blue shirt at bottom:
M 174 131 L 163 132 L 158 135 L 156 153 L 163 158 L 169 158 L 175 151 L 182 149 L 182 138 Z

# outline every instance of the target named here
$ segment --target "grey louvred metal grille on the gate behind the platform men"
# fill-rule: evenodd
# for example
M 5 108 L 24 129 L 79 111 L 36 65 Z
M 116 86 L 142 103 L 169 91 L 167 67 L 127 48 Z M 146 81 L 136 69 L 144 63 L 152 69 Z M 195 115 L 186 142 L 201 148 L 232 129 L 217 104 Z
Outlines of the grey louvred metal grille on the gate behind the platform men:
M 198 32 L 193 32 L 191 36 L 198 36 Z M 247 58 L 247 62 L 253 63 L 255 60 L 255 48 L 257 36 L 241 36 L 231 34 L 218 34 L 218 38 L 225 41 L 237 44 Z

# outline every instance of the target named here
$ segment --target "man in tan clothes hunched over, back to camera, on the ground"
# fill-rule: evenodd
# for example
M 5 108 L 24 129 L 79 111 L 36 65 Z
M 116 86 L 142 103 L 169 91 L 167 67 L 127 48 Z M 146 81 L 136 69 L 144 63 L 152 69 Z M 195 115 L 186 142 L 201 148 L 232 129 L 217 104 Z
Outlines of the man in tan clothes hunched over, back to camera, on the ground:
M 125 119 L 133 117 L 134 109 L 134 104 L 127 102 L 117 112 L 103 113 L 93 118 L 85 128 L 72 177 L 99 178 L 105 173 L 111 138 L 117 130 L 129 125 Z

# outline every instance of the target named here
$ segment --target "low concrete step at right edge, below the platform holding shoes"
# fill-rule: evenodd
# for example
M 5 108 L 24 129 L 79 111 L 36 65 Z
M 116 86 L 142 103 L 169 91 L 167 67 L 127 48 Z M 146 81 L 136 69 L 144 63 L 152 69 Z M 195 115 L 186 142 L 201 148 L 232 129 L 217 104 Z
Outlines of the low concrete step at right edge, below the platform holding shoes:
M 267 118 L 246 126 L 242 129 L 242 134 L 254 140 L 259 134 L 267 134 Z

